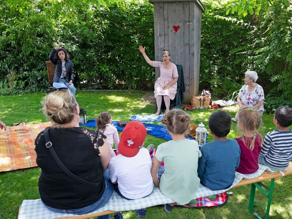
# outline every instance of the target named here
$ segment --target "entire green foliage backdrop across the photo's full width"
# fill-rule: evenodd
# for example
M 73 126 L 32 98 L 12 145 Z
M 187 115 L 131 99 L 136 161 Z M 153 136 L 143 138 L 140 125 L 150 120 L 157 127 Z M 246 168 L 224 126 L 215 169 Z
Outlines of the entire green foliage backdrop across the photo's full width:
M 146 46 L 154 60 L 153 5 L 133 0 L 99 10 L 91 2 L 76 0 L 68 10 L 57 1 L 32 1 L 21 13 L 0 4 L 0 95 L 47 89 L 45 61 L 59 41 L 74 63 L 79 89 L 151 87 L 154 69 L 137 48 Z M 291 105 L 291 5 L 273 1 L 261 14 L 240 20 L 224 17 L 240 4 L 234 0 L 203 4 L 200 89 L 235 97 L 244 72 L 252 69 L 264 85 L 268 112 L 277 102 Z

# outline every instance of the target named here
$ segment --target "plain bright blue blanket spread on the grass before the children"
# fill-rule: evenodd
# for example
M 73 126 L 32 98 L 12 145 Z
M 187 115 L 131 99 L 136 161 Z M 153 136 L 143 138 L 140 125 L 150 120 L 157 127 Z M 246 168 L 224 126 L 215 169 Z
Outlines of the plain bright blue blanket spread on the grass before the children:
M 118 121 L 112 121 L 112 124 L 114 124 L 114 127 L 116 127 L 118 131 L 124 130 L 124 127 L 118 126 Z M 166 139 L 168 141 L 172 140 L 171 135 L 169 134 L 169 132 L 167 131 L 167 128 L 165 126 L 159 126 L 159 125 L 155 125 L 155 124 L 151 124 L 151 123 L 143 123 L 143 122 L 142 122 L 142 124 L 146 128 L 147 134 L 153 135 L 153 136 L 158 137 L 158 138 L 163 138 L 163 139 Z M 79 124 L 79 125 L 95 128 L 95 125 L 96 125 L 95 119 L 90 119 L 86 122 L 86 124 Z M 192 140 L 192 138 L 187 138 L 187 139 Z M 206 141 L 206 143 L 207 143 L 207 141 Z

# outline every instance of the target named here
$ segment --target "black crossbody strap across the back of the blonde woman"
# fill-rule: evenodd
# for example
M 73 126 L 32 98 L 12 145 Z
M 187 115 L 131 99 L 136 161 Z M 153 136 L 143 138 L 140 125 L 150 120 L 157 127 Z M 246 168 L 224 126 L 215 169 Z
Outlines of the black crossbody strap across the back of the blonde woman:
M 65 166 L 64 164 L 60 161 L 58 155 L 56 154 L 52 142 L 50 141 L 49 138 L 49 134 L 48 134 L 48 130 L 50 129 L 50 127 L 46 128 L 44 130 L 44 137 L 46 140 L 46 147 L 50 150 L 54 160 L 56 161 L 56 163 L 59 165 L 59 167 L 62 169 L 62 171 L 64 171 L 68 176 L 70 176 L 72 179 L 76 180 L 79 183 L 82 183 L 84 185 L 90 186 L 90 187 L 96 187 L 98 186 L 100 183 L 90 183 L 88 181 L 85 181 L 81 178 L 79 178 L 77 175 L 74 175 L 72 172 L 70 172 Z

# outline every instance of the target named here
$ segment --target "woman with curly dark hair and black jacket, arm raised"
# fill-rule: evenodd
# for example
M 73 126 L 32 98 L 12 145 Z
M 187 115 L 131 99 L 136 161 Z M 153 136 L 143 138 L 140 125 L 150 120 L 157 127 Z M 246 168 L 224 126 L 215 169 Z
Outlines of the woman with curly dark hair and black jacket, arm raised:
M 51 51 L 49 59 L 55 65 L 55 75 L 53 79 L 54 88 L 67 87 L 75 96 L 76 88 L 73 85 L 74 69 L 69 54 L 64 48 L 59 48 L 62 42 Z

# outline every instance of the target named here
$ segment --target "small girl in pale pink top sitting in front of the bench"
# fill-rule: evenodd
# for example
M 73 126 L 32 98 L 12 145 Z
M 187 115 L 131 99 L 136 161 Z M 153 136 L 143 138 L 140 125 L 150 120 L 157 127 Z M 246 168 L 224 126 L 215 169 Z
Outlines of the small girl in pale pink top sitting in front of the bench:
M 107 136 L 107 142 L 109 144 L 109 148 L 111 149 L 111 157 L 116 156 L 114 150 L 112 150 L 112 146 L 114 143 L 117 152 L 119 153 L 118 145 L 120 139 L 117 128 L 112 125 L 112 117 L 109 112 L 102 112 L 96 118 L 96 130 Z

